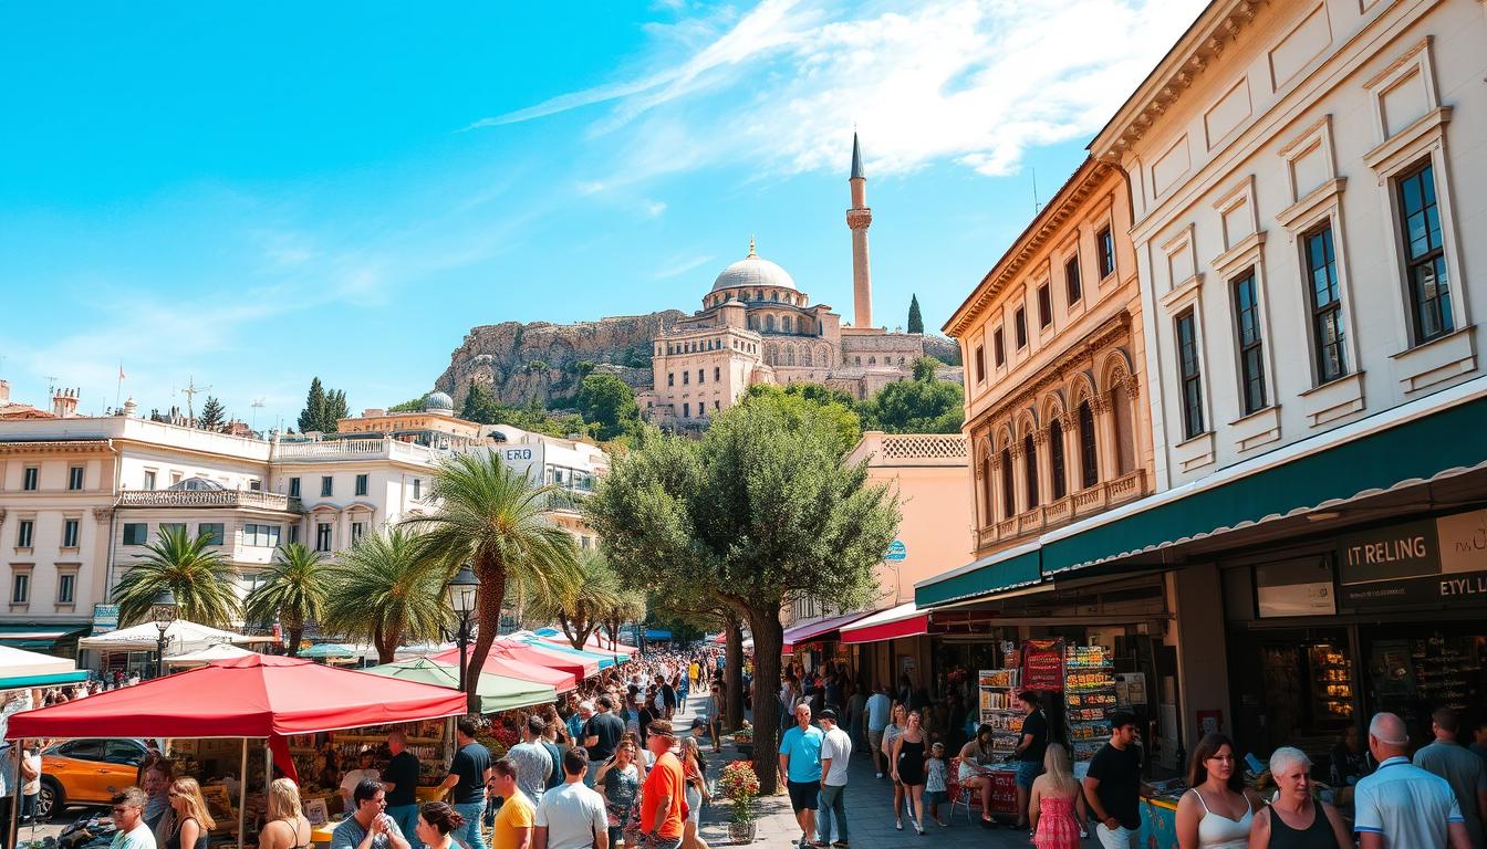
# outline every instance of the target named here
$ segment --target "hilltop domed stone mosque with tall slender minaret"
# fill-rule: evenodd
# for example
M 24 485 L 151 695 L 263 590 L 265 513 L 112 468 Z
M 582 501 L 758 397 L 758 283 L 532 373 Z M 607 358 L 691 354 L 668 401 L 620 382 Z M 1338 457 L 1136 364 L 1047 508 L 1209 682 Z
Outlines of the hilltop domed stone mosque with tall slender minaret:
M 925 352 L 923 336 L 873 327 L 873 284 L 867 254 L 867 177 L 857 138 L 852 140 L 854 323 L 796 285 L 779 265 L 748 256 L 723 269 L 702 297 L 702 309 L 654 340 L 653 387 L 639 393 L 647 418 L 662 424 L 702 427 L 726 410 L 754 384 L 815 382 L 865 398 L 885 385 L 913 375 Z M 961 369 L 946 367 L 943 379 L 961 381 Z

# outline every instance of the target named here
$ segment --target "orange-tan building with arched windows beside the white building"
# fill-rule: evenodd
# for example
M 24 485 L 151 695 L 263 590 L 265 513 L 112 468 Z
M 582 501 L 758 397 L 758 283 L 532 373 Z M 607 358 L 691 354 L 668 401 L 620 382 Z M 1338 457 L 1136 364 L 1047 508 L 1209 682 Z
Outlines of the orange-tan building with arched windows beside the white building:
M 1086 161 L 961 305 L 977 558 L 1146 495 L 1151 424 L 1130 204 Z

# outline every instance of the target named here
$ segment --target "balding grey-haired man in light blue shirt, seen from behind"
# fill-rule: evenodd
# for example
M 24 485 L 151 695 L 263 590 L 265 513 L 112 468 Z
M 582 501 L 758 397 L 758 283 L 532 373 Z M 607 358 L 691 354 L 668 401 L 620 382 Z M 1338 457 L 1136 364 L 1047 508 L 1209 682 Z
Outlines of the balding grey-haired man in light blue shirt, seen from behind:
M 1374 714 L 1368 751 L 1378 769 L 1359 781 L 1353 794 L 1353 831 L 1362 849 L 1433 848 L 1447 842 L 1451 849 L 1471 849 L 1451 785 L 1410 763 L 1404 720 Z

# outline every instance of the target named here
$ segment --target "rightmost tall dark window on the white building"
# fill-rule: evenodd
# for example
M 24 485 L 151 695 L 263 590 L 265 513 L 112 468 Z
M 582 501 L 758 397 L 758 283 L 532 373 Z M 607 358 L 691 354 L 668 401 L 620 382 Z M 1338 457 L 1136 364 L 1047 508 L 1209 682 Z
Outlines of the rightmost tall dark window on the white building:
M 1414 343 L 1420 345 L 1456 329 L 1441 244 L 1441 211 L 1435 199 L 1435 168 L 1429 162 L 1399 178 L 1399 217 Z

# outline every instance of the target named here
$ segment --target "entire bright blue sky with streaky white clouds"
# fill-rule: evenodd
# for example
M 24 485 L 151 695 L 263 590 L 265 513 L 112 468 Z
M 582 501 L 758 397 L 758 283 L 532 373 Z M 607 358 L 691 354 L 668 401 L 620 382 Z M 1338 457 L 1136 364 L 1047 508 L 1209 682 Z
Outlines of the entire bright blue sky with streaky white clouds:
M 1201 4 L 4 4 L 0 376 L 385 406 L 477 324 L 696 309 L 749 235 L 849 317 L 854 125 L 874 317 L 937 329 Z

